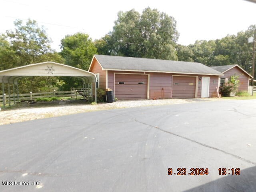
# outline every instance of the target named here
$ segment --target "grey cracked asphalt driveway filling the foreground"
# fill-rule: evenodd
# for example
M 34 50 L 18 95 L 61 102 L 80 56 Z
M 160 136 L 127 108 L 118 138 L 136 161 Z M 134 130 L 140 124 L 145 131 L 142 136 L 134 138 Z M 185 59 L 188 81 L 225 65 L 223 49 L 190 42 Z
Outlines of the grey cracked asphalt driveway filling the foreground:
M 3 125 L 0 191 L 256 191 L 255 125 L 256 100 L 116 109 Z M 186 175 L 177 175 L 177 168 L 186 168 Z M 190 168 L 208 168 L 208 175 L 188 175 Z M 226 176 L 219 176 L 218 168 L 227 168 Z M 240 175 L 233 176 L 231 168 L 240 168 Z M 12 185 L 3 186 L 5 181 Z

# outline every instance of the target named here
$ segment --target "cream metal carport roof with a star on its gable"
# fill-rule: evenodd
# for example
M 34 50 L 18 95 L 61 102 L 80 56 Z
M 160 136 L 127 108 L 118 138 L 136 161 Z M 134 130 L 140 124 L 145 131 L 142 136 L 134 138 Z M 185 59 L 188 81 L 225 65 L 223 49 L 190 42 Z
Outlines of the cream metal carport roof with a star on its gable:
M 97 81 L 91 72 L 60 63 L 42 62 L 0 71 L 0 83 L 16 84 L 26 76 L 71 76 L 81 78 L 84 83 Z

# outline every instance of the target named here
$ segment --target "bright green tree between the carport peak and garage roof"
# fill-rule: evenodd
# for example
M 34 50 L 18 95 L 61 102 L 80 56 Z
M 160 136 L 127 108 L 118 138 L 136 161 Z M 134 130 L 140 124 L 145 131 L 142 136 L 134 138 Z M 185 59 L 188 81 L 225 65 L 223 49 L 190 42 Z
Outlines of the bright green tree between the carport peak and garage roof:
M 76 33 L 67 35 L 61 40 L 60 55 L 67 65 L 88 70 L 92 57 L 96 53 L 97 48 L 88 34 Z

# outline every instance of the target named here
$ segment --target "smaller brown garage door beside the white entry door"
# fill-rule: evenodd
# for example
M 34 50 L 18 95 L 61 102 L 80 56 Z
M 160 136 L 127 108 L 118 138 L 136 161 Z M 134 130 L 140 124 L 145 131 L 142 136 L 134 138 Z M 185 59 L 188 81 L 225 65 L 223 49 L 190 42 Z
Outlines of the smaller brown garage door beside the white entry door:
M 172 76 L 172 98 L 195 98 L 196 77 Z

